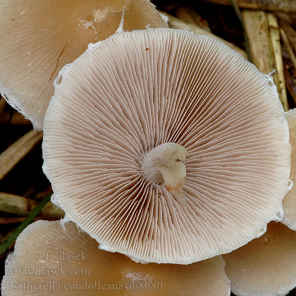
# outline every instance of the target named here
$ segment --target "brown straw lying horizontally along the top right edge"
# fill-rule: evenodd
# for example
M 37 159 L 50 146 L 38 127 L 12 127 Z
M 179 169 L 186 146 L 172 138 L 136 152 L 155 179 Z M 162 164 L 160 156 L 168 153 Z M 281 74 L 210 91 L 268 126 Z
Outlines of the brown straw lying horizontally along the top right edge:
M 203 0 L 222 5 L 231 5 L 231 0 Z M 282 11 L 296 12 L 296 0 L 237 0 L 240 8 L 266 10 L 266 11 Z

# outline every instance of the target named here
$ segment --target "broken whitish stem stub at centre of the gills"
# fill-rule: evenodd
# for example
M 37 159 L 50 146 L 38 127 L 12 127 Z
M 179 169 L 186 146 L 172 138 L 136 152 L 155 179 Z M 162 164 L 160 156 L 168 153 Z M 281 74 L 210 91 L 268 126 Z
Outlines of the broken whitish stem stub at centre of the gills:
M 180 192 L 186 178 L 186 149 L 175 143 L 164 143 L 144 158 L 142 173 L 146 181 L 163 184 L 170 193 Z

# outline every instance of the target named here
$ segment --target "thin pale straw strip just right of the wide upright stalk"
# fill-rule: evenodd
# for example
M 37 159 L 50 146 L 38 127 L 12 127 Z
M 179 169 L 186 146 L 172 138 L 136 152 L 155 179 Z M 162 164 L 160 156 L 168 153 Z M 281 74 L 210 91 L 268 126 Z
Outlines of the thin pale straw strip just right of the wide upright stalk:
M 274 14 L 267 13 L 266 16 L 267 16 L 267 23 L 268 23 L 269 34 L 270 34 L 269 36 L 271 40 L 274 61 L 275 61 L 275 68 L 276 68 L 276 75 L 277 75 L 277 90 L 278 90 L 280 101 L 283 105 L 284 110 L 288 111 L 289 104 L 288 104 L 287 91 L 286 91 L 279 27 L 278 27 L 276 16 Z

